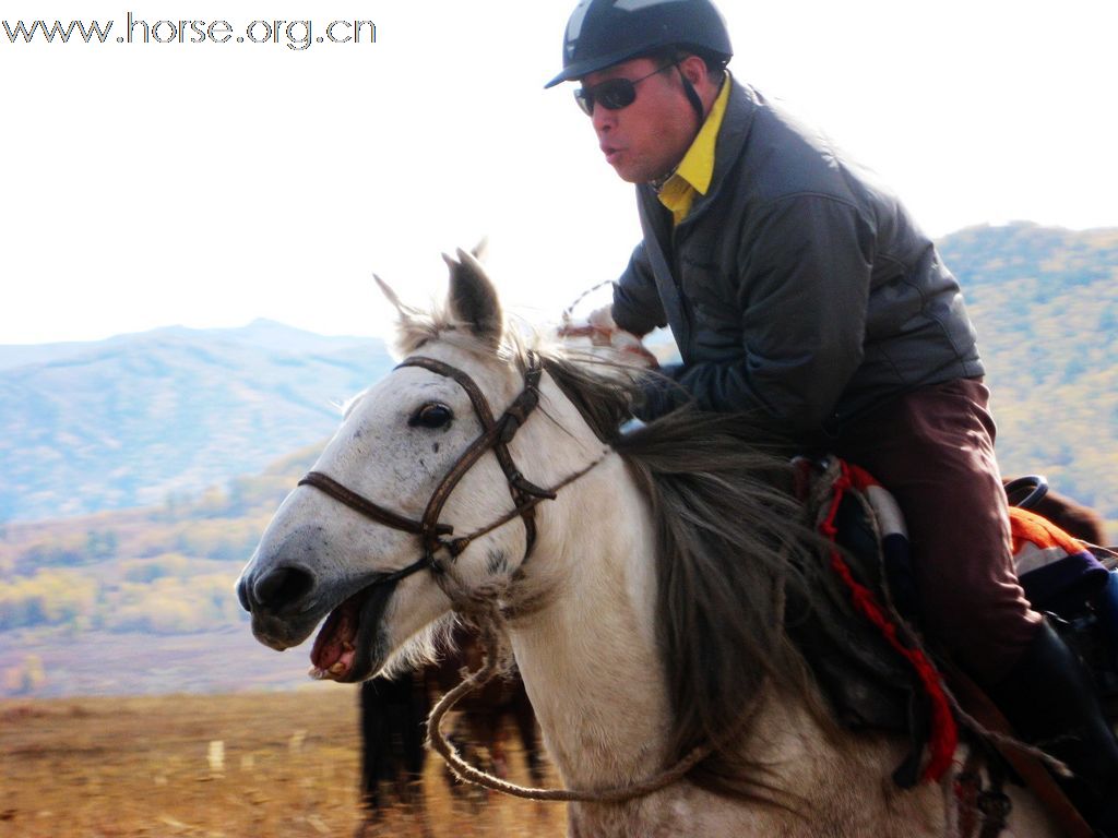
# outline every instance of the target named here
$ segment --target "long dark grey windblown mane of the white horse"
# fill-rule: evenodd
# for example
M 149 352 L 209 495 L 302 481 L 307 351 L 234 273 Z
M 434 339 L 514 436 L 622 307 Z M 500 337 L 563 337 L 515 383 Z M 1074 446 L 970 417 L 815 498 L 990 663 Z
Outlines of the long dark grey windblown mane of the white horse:
M 805 698 L 825 730 L 833 724 L 785 631 L 785 603 L 811 607 L 822 590 L 813 581 L 822 541 L 792 495 L 788 445 L 748 416 L 693 408 L 620 434 L 638 398 L 632 369 L 617 374 L 608 362 L 557 353 L 544 354 L 544 368 L 652 507 L 656 625 L 673 712 L 669 763 L 712 745 L 692 782 L 787 804 L 765 766 L 741 758 L 741 743 L 755 732 L 767 685 Z

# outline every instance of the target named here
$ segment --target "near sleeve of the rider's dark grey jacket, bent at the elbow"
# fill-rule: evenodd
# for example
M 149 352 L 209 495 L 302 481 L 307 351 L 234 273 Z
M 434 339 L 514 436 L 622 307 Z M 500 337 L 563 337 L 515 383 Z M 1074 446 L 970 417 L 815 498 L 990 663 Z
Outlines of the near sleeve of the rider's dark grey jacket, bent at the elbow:
M 797 194 L 770 204 L 741 231 L 740 355 L 666 369 L 681 388 L 660 391 L 817 431 L 862 361 L 872 249 L 869 225 L 843 201 Z

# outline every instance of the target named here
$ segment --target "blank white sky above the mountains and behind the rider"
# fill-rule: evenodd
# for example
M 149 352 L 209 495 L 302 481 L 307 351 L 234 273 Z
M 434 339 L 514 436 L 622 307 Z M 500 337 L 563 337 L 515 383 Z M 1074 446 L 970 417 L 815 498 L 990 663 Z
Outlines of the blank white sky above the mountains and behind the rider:
M 235 35 L 264 15 L 315 37 L 368 19 L 378 42 L 12 45 L 0 28 L 0 343 L 257 316 L 380 334 L 373 272 L 425 303 L 439 253 L 486 234 L 509 307 L 556 320 L 638 237 L 571 85 L 542 89 L 574 4 L 6 1 L 10 25 L 112 19 L 112 40 L 131 9 Z M 1115 0 L 721 8 L 737 77 L 824 127 L 932 235 L 1118 226 Z

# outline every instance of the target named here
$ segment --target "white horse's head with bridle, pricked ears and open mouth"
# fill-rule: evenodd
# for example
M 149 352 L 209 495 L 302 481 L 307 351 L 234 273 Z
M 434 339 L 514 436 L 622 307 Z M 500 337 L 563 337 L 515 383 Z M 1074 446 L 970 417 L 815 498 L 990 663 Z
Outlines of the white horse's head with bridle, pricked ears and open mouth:
M 533 546 L 536 506 L 553 497 L 541 486 L 563 476 L 539 445 L 555 423 L 521 430 L 549 400 L 538 361 L 510 347 L 481 264 L 462 250 L 446 260 L 442 312 L 421 315 L 386 287 L 407 359 L 350 403 L 237 582 L 254 635 L 274 649 L 324 620 L 316 677 L 370 677 L 405 648 L 421 656 L 453 610 L 492 607 Z M 555 401 L 552 418 L 570 410 Z M 601 448 L 593 435 L 586 445 Z

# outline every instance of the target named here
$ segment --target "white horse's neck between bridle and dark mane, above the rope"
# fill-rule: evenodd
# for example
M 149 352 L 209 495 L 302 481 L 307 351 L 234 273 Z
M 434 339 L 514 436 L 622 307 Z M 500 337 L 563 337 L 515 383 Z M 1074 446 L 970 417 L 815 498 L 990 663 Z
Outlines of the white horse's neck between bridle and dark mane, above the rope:
M 641 779 L 669 718 L 647 503 L 614 455 L 548 513 L 528 569 L 546 604 L 511 625 L 517 663 L 567 783 Z

